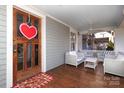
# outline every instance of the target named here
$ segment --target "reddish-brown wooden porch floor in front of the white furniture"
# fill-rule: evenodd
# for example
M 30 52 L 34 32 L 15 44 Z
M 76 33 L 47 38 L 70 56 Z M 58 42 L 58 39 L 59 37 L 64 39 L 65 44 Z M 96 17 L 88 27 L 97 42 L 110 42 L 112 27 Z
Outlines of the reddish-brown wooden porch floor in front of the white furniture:
M 96 70 L 62 65 L 47 72 L 53 80 L 47 84 L 49 88 L 124 88 L 124 77 L 103 73 L 103 63 L 99 63 Z

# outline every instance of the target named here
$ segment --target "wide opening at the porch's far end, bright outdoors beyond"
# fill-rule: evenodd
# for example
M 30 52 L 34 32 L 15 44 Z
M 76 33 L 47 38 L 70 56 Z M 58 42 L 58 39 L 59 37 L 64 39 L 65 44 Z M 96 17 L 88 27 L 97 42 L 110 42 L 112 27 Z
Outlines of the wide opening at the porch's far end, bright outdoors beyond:
M 114 50 L 114 32 L 104 31 L 82 35 L 83 50 Z

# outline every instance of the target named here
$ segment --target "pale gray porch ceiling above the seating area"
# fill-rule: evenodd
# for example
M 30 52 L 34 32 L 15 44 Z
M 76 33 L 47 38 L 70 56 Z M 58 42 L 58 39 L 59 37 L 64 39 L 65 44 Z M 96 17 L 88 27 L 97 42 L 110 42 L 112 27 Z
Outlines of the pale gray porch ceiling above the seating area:
M 123 20 L 121 5 L 38 5 L 36 8 L 71 25 L 78 31 L 118 26 Z

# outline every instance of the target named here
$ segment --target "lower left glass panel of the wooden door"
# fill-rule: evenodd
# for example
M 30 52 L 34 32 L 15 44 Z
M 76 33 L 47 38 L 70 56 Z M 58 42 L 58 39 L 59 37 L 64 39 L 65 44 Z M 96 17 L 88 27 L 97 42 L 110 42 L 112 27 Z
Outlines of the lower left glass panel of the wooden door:
M 17 56 L 18 56 L 17 70 L 19 71 L 19 70 L 23 69 L 23 63 L 24 63 L 23 44 L 18 44 L 17 45 Z

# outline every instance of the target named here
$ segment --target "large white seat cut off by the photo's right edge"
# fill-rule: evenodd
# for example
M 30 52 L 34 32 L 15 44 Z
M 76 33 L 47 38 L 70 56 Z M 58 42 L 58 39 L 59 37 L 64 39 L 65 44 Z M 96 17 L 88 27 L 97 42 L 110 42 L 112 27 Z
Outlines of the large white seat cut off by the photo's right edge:
M 124 77 L 124 55 L 104 59 L 104 73 L 110 73 Z

